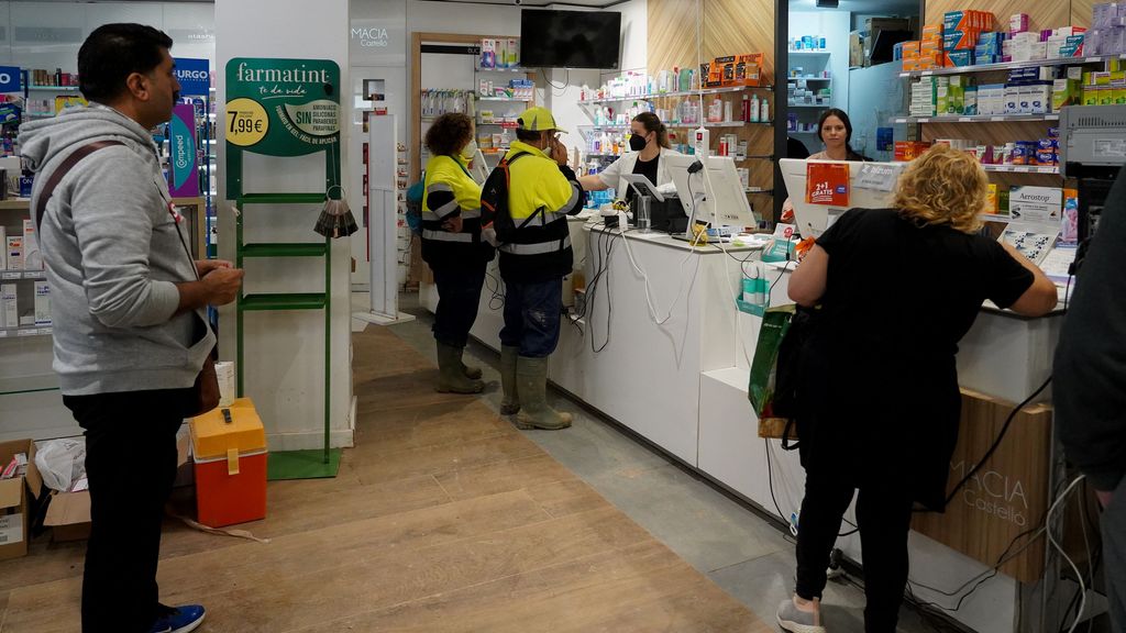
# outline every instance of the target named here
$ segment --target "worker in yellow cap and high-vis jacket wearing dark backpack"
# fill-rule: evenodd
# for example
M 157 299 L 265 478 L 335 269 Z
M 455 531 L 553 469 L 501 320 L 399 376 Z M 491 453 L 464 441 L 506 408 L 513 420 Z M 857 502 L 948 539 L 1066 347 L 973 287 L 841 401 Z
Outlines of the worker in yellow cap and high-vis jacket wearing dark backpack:
M 516 231 L 498 246 L 504 280 L 501 412 L 516 413 L 521 429 L 571 426 L 569 413 L 547 405 L 547 358 L 558 344 L 563 277 L 574 260 L 566 216 L 582 211 L 586 194 L 558 133 L 549 110 L 529 108 L 517 119 L 517 140 L 504 157 Z

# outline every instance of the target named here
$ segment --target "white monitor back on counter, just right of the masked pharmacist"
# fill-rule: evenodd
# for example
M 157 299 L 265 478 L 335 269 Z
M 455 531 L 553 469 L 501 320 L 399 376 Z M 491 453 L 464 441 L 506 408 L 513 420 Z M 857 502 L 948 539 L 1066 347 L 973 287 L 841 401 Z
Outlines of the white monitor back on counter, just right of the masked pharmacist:
M 669 173 L 677 187 L 685 214 L 713 226 L 756 226 L 754 213 L 747 202 L 747 190 L 735 171 L 735 159 L 708 157 L 704 169 L 692 168 L 695 155 L 668 155 Z M 691 222 L 691 221 L 689 221 Z

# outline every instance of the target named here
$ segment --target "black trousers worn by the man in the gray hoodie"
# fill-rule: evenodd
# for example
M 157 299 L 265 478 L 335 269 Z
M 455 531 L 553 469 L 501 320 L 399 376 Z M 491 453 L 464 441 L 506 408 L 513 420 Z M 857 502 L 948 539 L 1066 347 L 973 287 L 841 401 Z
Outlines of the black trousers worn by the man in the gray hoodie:
M 157 560 L 176 479 L 176 431 L 193 390 L 64 395 L 86 429 L 90 541 L 82 633 L 148 633 L 157 619 Z

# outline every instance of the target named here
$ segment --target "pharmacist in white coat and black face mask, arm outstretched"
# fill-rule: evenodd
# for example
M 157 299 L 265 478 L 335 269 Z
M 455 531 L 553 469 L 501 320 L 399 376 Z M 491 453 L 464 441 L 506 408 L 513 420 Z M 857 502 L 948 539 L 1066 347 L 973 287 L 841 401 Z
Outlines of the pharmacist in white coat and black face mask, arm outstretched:
M 622 158 L 600 173 L 580 178 L 582 188 L 587 191 L 601 191 L 614 187 L 619 198 L 632 203 L 636 193 L 622 176 L 640 173 L 658 187 L 672 182 L 664 157 L 679 155 L 680 152 L 669 149 L 669 130 L 655 114 L 641 113 L 629 123 L 629 149 L 632 151 L 622 154 Z

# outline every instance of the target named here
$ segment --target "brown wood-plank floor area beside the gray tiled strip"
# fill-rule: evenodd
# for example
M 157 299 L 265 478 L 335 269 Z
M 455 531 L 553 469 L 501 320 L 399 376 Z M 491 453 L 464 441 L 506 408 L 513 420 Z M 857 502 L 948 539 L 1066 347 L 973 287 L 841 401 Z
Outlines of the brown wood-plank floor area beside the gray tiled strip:
M 168 604 L 215 632 L 772 631 L 385 328 L 355 336 L 356 448 L 271 482 L 269 544 L 169 521 Z M 0 631 L 79 631 L 82 544 L 0 563 Z

